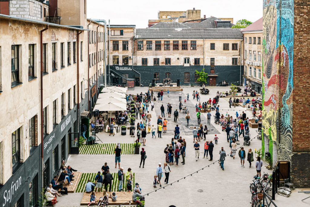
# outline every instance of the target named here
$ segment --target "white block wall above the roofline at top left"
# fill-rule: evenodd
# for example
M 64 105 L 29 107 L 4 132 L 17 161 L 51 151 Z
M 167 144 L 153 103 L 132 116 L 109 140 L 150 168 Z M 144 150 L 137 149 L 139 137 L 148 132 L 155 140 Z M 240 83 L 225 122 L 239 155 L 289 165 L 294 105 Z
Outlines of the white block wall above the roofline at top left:
M 42 3 L 36 0 L 10 1 L 11 16 L 42 21 L 42 10 Z

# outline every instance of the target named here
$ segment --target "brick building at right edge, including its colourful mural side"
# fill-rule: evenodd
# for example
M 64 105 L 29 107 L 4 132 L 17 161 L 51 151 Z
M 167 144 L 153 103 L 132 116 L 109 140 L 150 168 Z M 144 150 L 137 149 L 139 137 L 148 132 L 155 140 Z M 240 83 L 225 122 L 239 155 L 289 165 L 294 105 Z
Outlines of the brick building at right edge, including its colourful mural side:
M 290 161 L 295 187 L 310 187 L 309 12 L 306 0 L 263 1 L 262 152 Z

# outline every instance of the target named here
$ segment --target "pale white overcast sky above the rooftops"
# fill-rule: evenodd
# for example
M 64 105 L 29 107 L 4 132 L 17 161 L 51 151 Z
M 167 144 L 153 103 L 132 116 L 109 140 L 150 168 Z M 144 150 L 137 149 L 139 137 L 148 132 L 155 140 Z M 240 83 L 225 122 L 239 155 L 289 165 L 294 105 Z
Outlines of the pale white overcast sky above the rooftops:
M 88 0 L 87 18 L 146 28 L 149 19 L 158 19 L 158 11 L 186 11 L 193 7 L 201 10 L 201 17 L 233 18 L 233 23 L 240 19 L 254 22 L 263 16 L 263 0 Z

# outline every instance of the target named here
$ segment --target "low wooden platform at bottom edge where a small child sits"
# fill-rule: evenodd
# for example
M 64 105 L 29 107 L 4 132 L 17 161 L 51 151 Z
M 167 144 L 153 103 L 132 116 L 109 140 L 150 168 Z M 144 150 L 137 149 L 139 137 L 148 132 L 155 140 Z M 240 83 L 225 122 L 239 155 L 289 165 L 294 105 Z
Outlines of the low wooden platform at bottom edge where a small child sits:
M 112 192 L 107 192 L 108 196 L 110 196 L 112 194 Z M 109 197 L 109 205 L 121 205 L 125 203 L 127 205 L 135 205 L 134 201 L 131 201 L 131 203 L 129 204 L 129 200 L 132 200 L 132 193 L 133 192 L 115 192 L 117 195 L 116 201 L 112 201 L 112 198 Z M 96 198 L 99 199 L 100 197 L 102 197 L 102 192 L 96 192 Z M 87 205 L 89 203 L 89 200 L 91 198 L 91 192 L 87 193 L 85 192 L 81 201 L 81 205 Z

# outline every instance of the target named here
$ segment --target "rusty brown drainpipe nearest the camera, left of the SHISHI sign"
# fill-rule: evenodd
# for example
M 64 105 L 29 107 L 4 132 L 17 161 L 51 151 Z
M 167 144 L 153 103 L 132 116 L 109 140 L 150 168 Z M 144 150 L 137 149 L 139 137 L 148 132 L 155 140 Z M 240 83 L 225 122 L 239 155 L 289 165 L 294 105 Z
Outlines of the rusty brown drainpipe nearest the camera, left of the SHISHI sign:
M 43 32 L 48 29 L 48 25 L 46 28 L 42 29 L 40 31 L 40 102 L 41 102 L 41 186 L 42 188 L 44 187 L 43 185 Z

